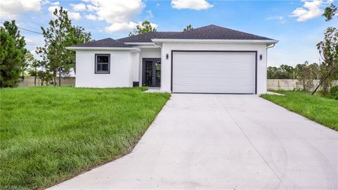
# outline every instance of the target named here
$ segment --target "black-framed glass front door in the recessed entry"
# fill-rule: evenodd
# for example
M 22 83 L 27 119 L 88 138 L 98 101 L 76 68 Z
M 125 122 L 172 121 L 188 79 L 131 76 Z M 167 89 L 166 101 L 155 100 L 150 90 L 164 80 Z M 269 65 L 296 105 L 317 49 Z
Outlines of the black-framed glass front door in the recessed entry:
M 161 58 L 143 58 L 142 85 L 161 87 Z

